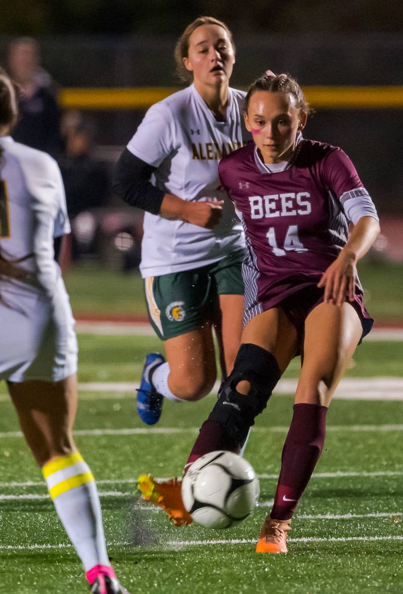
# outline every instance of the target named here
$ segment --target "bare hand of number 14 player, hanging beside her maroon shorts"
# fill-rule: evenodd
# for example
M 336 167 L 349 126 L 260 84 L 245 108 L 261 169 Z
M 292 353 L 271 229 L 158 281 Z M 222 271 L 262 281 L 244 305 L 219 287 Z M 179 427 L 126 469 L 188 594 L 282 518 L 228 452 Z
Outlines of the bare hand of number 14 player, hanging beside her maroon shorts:
M 348 298 L 354 301 L 356 294 L 356 257 L 348 252 L 340 252 L 336 260 L 325 270 L 318 287 L 325 287 L 323 300 L 341 307 Z

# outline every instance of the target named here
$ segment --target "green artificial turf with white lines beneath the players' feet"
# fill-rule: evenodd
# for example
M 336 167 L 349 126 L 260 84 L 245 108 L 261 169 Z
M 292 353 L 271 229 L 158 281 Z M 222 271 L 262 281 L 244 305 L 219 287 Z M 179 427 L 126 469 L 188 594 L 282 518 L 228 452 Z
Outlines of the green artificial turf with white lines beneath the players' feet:
M 139 336 L 80 335 L 79 342 L 81 382 L 138 381 L 145 353 L 160 346 L 154 337 Z M 367 342 L 357 349 L 348 374 L 401 377 L 402 360 L 402 343 Z M 296 359 L 288 377 L 296 377 L 298 368 Z M 135 490 L 139 473 L 181 472 L 198 427 L 211 410 L 212 396 L 193 404 L 164 403 L 157 428 L 176 432 L 160 434 L 135 433 L 145 426 L 135 414 L 131 391 L 82 390 L 80 396 L 77 444 L 99 481 L 109 553 L 131 594 L 403 592 L 403 541 L 398 539 L 403 538 L 403 402 L 334 400 L 325 449 L 293 522 L 290 552 L 271 556 L 256 555 L 253 542 L 274 497 L 291 395 L 272 397 L 247 445 L 246 458 L 263 475 L 261 505 L 245 522 L 221 532 L 195 524 L 176 529 L 162 512 L 145 507 Z M 68 546 L 40 470 L 17 431 L 14 410 L 3 392 L 1 591 L 84 593 L 80 561 Z M 328 514 L 359 517 L 317 517 Z M 363 540 L 332 540 L 354 538 Z M 222 539 L 226 542 L 214 544 Z

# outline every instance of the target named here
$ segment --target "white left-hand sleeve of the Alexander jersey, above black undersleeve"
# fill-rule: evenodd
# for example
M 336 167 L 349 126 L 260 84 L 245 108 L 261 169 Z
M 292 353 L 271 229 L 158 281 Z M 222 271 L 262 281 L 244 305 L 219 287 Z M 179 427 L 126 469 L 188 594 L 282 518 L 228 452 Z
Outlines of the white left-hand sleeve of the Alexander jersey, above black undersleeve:
M 159 167 L 175 146 L 175 123 L 169 106 L 156 103 L 145 114 L 127 149 L 136 157 Z

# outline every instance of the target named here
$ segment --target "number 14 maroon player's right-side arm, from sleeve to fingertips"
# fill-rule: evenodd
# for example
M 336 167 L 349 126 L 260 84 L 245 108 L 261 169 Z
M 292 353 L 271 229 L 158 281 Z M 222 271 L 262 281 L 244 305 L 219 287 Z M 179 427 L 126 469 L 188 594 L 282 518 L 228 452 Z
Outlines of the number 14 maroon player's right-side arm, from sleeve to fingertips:
M 372 247 L 380 227 L 375 205 L 363 188 L 353 163 L 342 151 L 331 157 L 333 163 L 329 165 L 328 175 L 331 189 L 339 195 L 345 215 L 354 226 L 338 257 L 323 273 L 318 287 L 324 287 L 326 303 L 341 306 L 347 297 L 350 301 L 354 299 L 357 262 Z

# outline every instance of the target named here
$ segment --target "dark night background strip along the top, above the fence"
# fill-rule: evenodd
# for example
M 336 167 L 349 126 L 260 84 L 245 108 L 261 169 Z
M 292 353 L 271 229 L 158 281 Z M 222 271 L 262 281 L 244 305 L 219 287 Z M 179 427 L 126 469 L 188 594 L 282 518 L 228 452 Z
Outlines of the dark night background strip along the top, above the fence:
M 2 0 L 0 33 L 173 34 L 198 15 L 226 21 L 233 33 L 401 33 L 401 0 Z

